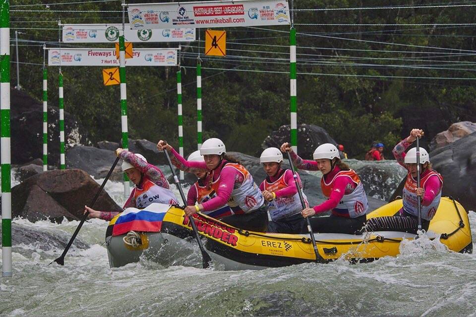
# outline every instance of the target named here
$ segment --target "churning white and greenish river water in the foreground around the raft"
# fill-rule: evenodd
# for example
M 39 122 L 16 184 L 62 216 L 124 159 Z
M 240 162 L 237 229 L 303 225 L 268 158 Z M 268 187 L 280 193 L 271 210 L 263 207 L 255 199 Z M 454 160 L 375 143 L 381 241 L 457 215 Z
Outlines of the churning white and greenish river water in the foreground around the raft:
M 106 186 L 119 204 L 121 186 Z M 475 212 L 469 216 L 475 227 Z M 103 245 L 107 222 L 93 219 L 65 265 L 48 265 L 77 225 L 13 221 L 13 277 L 0 279 L 0 316 L 476 315 L 476 255 L 448 252 L 435 241 L 405 243 L 397 258 L 370 264 L 221 271 L 199 268 L 197 251 L 187 261 L 195 267 L 143 259 L 110 268 Z

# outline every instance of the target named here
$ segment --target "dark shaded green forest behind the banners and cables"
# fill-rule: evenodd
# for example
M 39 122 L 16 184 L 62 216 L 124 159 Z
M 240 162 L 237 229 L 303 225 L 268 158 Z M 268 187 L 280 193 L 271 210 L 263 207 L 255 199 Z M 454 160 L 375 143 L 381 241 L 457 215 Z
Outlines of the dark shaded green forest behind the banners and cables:
M 160 1 L 127 1 L 134 2 Z M 47 47 L 59 47 L 55 20 L 120 23 L 120 12 L 92 11 L 120 10 L 121 6 L 120 1 L 110 1 L 13 7 L 32 3 L 41 2 L 10 3 L 11 59 L 16 60 L 14 31 L 17 30 L 23 33 L 18 36 L 19 61 L 22 62 L 20 84 L 24 91 L 41 100 L 43 42 Z M 475 122 L 476 31 L 475 25 L 462 24 L 475 23 L 476 6 L 332 10 L 475 3 L 295 1 L 295 9 L 299 10 L 295 11 L 297 71 L 300 73 L 297 76 L 298 123 L 325 128 L 338 143 L 345 145 L 351 157 L 362 158 L 375 141 L 388 146 L 389 154 L 393 145 L 408 135 L 412 127 L 425 129 L 426 142 L 429 142 L 453 122 Z M 327 10 L 302 10 L 310 8 Z M 81 10 L 89 12 L 75 12 Z M 342 25 L 302 25 L 309 23 Z M 201 42 L 181 43 L 185 153 L 196 149 L 198 53 L 202 59 L 203 140 L 219 137 L 229 150 L 256 155 L 271 131 L 290 122 L 289 26 L 226 30 L 226 57 L 203 55 L 204 29 L 199 30 Z M 135 47 L 177 45 L 134 43 Z M 61 43 L 61 47 L 80 46 Z M 84 44 L 82 47 L 113 45 Z M 12 64 L 12 85 L 16 83 L 14 67 Z M 127 68 L 130 138 L 153 142 L 162 138 L 178 145 L 177 70 L 178 67 Z M 49 105 L 58 106 L 58 67 L 49 67 L 48 71 Z M 64 106 L 87 129 L 91 142 L 118 142 L 121 131 L 119 86 L 103 86 L 101 71 L 101 67 L 63 67 Z

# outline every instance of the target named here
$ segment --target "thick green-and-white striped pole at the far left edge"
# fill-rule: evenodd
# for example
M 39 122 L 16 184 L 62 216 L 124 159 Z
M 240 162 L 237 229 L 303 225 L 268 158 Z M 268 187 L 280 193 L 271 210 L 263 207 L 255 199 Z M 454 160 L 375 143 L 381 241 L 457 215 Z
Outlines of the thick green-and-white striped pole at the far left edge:
M 10 2 L 0 0 L 1 276 L 11 276 Z

